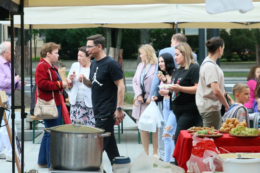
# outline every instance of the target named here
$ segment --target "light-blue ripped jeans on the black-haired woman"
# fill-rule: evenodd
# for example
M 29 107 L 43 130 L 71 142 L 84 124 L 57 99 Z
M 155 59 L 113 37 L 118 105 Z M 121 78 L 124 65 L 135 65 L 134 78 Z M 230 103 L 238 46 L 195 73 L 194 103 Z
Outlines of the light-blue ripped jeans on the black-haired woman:
M 170 99 L 163 99 L 163 116 L 164 121 L 166 122 L 165 128 L 171 126 L 171 129 L 167 131 L 164 129 L 164 134 L 169 134 L 170 137 L 163 137 L 164 140 L 164 161 L 171 161 L 171 157 L 174 151 L 174 140 L 172 140 L 172 136 L 175 134 L 177 122 L 173 111 L 170 111 Z

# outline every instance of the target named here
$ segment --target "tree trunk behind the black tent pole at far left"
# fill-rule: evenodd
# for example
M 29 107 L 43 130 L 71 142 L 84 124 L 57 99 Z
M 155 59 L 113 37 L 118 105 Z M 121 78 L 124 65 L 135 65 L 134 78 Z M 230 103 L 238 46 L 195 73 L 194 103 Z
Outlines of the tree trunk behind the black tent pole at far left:
M 14 68 L 17 74 L 21 74 L 21 32 L 18 30 L 18 40 L 15 45 L 15 55 L 14 55 Z M 24 74 L 30 74 L 30 54 L 29 54 L 29 44 L 30 36 L 28 30 L 24 30 Z M 21 76 L 20 76 L 21 77 Z

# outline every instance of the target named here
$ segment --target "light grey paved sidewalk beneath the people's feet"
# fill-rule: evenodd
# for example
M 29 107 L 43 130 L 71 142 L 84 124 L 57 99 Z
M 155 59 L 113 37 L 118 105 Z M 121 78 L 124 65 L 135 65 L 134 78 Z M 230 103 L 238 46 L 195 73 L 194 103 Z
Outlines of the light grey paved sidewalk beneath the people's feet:
M 18 130 L 21 129 L 21 119 L 20 119 L 20 112 L 16 112 L 16 119 L 15 119 L 16 128 Z M 39 125 L 38 127 L 42 127 L 43 125 Z M 119 153 L 121 156 L 128 156 L 131 161 L 133 161 L 139 154 L 143 152 L 142 144 L 138 144 L 138 131 L 135 122 L 127 115 L 124 119 L 123 123 L 123 134 L 121 133 L 121 143 L 117 143 L 117 147 L 119 149 Z M 25 130 L 30 131 L 30 130 Z M 32 130 L 31 130 L 32 131 Z M 37 130 L 37 131 L 42 131 Z M 117 133 L 117 126 L 115 126 L 115 132 Z M 31 169 L 38 170 L 39 173 L 48 173 L 47 168 L 38 168 L 37 161 L 38 161 L 38 154 L 40 143 L 42 139 L 43 133 L 36 137 L 35 144 L 32 141 L 25 141 L 24 142 L 24 162 L 26 164 L 27 171 Z M 117 134 L 115 134 L 116 139 L 118 141 Z M 4 149 L 5 153 L 5 149 Z M 149 145 L 149 155 L 152 156 L 153 154 L 153 147 L 152 144 Z M 107 157 L 107 153 L 103 153 L 103 167 L 107 173 L 112 173 L 112 166 L 110 165 L 110 161 Z M 12 162 L 7 162 L 3 159 L 0 159 L 0 172 L 1 173 L 12 173 Z M 18 173 L 17 169 L 15 168 L 15 172 Z

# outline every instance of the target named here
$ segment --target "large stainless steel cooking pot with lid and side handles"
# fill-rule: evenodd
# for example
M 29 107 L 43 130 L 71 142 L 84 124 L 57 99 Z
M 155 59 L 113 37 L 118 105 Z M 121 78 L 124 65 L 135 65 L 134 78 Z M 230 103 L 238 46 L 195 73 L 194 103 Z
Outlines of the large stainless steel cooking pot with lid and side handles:
M 51 134 L 50 163 L 53 168 L 63 170 L 93 170 L 101 166 L 104 129 L 81 125 L 75 121 L 70 125 L 45 128 Z M 103 134 L 104 133 L 104 134 Z

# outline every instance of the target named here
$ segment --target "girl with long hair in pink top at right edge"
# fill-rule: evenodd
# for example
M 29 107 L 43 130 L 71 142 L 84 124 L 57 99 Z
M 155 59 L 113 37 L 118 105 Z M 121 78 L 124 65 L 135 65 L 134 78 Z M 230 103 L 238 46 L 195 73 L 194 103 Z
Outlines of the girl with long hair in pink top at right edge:
M 248 103 L 245 103 L 244 106 L 247 108 L 248 113 L 253 113 L 253 103 L 255 100 L 255 87 L 260 75 L 260 66 L 255 65 L 250 69 L 249 74 L 247 75 L 247 85 L 250 89 L 250 99 Z

